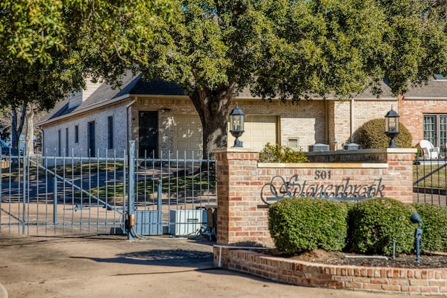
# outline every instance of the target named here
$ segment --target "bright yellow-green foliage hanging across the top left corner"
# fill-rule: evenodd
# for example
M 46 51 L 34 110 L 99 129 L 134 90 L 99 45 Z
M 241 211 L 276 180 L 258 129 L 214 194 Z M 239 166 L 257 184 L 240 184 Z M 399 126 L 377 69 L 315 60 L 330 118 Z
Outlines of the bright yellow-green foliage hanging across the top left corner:
M 2 0 L 0 57 L 52 64 L 55 52 L 69 53 L 88 32 L 101 47 L 97 58 L 107 61 L 135 50 L 140 37 L 150 40 L 151 26 L 172 17 L 170 0 Z

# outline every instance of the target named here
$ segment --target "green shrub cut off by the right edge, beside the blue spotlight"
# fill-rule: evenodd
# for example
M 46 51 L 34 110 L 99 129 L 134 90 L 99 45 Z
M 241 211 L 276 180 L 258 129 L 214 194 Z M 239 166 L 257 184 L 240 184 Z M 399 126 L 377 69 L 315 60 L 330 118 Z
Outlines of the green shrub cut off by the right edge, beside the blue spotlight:
M 447 207 L 434 204 L 413 204 L 422 219 L 422 251 L 447 251 Z M 414 225 L 417 228 L 417 225 Z

